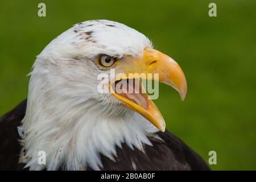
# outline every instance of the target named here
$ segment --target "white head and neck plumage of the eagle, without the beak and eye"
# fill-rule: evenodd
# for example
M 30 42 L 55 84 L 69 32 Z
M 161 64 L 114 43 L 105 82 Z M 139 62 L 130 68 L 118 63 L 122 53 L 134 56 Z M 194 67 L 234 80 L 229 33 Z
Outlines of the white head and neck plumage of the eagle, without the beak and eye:
M 98 170 L 100 153 L 114 160 L 123 142 L 139 150 L 151 145 L 147 136 L 158 129 L 112 94 L 97 92 L 98 74 L 109 71 L 95 64 L 99 54 L 142 56 L 146 47 L 146 36 L 109 20 L 76 24 L 52 40 L 30 73 L 20 162 L 31 170 Z M 46 165 L 38 164 L 39 151 Z

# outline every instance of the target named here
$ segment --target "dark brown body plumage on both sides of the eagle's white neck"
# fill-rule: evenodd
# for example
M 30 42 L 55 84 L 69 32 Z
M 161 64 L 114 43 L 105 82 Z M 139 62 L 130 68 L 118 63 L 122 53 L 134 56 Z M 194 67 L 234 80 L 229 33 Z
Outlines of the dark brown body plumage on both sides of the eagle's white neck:
M 0 170 L 23 170 L 19 164 L 21 146 L 17 127 L 26 113 L 27 100 L 0 118 Z M 144 152 L 132 150 L 125 143 L 116 147 L 115 162 L 104 155 L 104 170 L 210 170 L 204 160 L 183 141 L 168 131 L 158 133 L 163 141 L 149 138 L 153 146 L 144 146 Z M 26 169 L 25 169 L 26 170 Z

